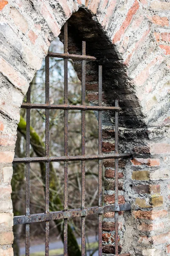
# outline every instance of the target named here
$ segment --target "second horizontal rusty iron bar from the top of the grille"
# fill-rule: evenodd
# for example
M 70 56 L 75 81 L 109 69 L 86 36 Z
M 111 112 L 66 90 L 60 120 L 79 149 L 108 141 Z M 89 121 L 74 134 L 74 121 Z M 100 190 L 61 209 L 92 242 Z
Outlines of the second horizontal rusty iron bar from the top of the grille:
M 83 105 L 49 105 L 49 104 L 31 104 L 23 103 L 21 108 L 42 108 L 42 109 L 66 109 L 66 110 L 93 110 L 93 111 L 121 111 L 119 107 L 108 107 L 108 106 L 83 106 Z

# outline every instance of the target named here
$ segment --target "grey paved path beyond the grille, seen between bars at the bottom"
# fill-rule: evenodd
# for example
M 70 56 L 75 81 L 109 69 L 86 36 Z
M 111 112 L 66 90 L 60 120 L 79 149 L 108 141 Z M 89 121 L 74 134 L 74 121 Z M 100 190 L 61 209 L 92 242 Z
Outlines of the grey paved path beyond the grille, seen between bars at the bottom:
M 88 241 L 90 243 L 96 242 L 96 236 L 90 236 L 88 238 Z M 77 238 L 77 242 L 78 244 L 81 244 L 81 238 Z M 60 249 L 63 248 L 63 243 L 62 241 L 57 241 L 57 242 L 53 242 L 49 244 L 49 249 L 50 250 L 54 250 L 54 249 Z M 37 253 L 37 252 L 42 252 L 45 251 L 45 244 L 38 244 L 38 245 L 33 245 L 30 247 L 30 253 Z M 26 254 L 26 248 L 25 247 L 21 247 L 20 248 L 20 255 L 25 255 Z M 88 255 L 90 255 L 90 252 L 88 253 Z M 93 256 L 98 256 L 99 253 L 95 252 Z

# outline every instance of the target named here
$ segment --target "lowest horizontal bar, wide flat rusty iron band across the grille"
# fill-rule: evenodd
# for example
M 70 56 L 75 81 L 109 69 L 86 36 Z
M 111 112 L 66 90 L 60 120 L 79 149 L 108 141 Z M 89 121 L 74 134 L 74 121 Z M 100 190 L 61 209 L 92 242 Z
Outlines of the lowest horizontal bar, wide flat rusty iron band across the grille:
M 22 215 L 14 217 L 14 225 L 28 224 L 42 221 L 52 221 L 64 218 L 83 217 L 88 215 L 102 214 L 105 212 L 120 212 L 131 210 L 131 204 L 105 205 L 102 207 L 90 207 L 85 209 L 71 209 L 67 211 L 57 211 L 48 213 L 38 213 L 31 215 Z

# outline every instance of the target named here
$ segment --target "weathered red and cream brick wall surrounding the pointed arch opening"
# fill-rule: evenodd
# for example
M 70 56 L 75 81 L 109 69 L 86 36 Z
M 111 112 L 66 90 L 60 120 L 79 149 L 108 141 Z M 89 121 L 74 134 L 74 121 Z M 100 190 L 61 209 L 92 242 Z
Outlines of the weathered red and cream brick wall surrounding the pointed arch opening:
M 77 12 L 80 7 L 84 11 Z M 119 99 L 119 150 L 133 154 L 131 160 L 119 161 L 119 202 L 132 203 L 132 212 L 119 215 L 122 252 L 170 255 L 169 10 L 170 2 L 164 0 L 0 0 L 0 255 L 13 254 L 10 182 L 20 105 L 69 17 L 79 39 L 88 41 L 87 52 L 103 65 L 103 104 Z M 73 35 L 70 31 L 70 41 L 79 48 Z M 74 65 L 78 73 L 79 65 Z M 95 103 L 95 66 L 88 68 L 86 87 Z M 111 113 L 104 116 L 104 152 L 114 150 L 112 121 Z M 104 166 L 104 202 L 112 204 L 113 161 Z M 107 213 L 103 255 L 113 253 L 113 243 L 113 214 Z

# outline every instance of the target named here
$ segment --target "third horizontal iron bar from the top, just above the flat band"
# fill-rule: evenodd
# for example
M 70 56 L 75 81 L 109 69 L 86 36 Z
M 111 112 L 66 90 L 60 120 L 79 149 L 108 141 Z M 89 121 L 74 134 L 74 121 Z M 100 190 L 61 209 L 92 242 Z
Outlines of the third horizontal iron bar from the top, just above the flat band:
M 62 156 L 62 157 L 23 157 L 14 158 L 13 163 L 40 163 L 40 162 L 62 162 L 62 161 L 86 161 L 130 157 L 129 153 L 101 154 L 92 156 Z

